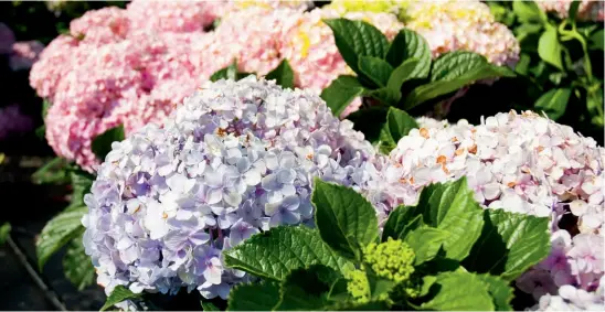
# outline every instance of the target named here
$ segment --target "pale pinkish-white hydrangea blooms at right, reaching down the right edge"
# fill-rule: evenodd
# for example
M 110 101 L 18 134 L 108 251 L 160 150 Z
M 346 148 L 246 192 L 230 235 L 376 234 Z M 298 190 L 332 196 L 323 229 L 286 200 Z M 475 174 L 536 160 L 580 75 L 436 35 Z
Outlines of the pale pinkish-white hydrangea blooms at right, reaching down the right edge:
M 519 278 L 520 289 L 537 299 L 563 286 L 593 292 L 603 277 L 605 150 L 529 111 L 479 126 L 432 123 L 375 162 L 367 194 L 379 216 L 415 204 L 429 183 L 465 175 L 482 206 L 551 218 L 552 252 Z

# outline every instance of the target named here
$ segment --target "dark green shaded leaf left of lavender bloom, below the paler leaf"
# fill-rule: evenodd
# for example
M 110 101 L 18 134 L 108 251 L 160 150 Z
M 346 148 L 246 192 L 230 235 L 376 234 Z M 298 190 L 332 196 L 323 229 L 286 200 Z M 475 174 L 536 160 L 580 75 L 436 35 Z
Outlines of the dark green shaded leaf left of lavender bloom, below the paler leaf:
M 67 252 L 63 257 L 63 271 L 77 290 L 83 290 L 94 283 L 95 267 L 91 257 L 84 254 L 82 236 L 75 237 L 70 243 Z

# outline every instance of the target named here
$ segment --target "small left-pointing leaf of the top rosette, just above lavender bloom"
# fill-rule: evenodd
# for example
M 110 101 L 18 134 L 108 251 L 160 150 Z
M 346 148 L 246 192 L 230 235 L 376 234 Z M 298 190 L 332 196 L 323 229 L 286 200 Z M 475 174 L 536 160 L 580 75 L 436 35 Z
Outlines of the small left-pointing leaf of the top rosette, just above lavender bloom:
M 339 76 L 329 87 L 321 92 L 320 97 L 332 110 L 335 116 L 340 116 L 344 108 L 358 96 L 363 94 L 365 88 L 353 76 Z

